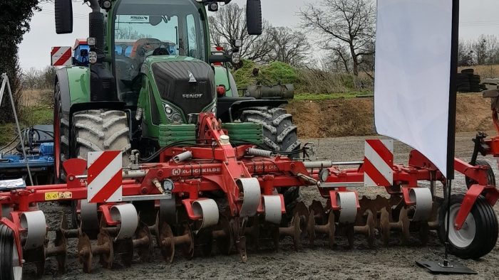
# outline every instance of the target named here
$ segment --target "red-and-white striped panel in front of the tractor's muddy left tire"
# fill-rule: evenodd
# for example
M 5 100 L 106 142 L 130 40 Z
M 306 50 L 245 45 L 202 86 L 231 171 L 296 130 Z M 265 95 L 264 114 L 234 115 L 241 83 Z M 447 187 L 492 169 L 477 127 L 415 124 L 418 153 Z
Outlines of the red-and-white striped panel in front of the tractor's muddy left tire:
M 113 203 L 123 198 L 121 151 L 88 153 L 87 199 L 89 203 Z

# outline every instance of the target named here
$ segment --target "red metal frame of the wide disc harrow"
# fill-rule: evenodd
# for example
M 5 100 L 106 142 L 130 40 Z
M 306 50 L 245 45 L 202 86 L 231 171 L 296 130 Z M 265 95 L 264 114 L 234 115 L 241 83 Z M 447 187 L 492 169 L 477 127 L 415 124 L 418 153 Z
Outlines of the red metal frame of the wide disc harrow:
M 237 216 L 242 208 L 242 195 L 237 186 L 237 179 L 257 178 L 262 195 L 272 195 L 276 188 L 289 188 L 292 186 L 318 186 L 319 170 L 307 170 L 302 161 L 292 161 L 285 156 L 264 158 L 259 156 L 247 156 L 247 149 L 252 145 L 233 147 L 222 139 L 225 132 L 221 129 L 217 119 L 212 114 L 200 114 L 199 116 L 199 141 L 195 146 L 168 148 L 160 154 L 160 163 L 144 163 L 140 169 L 145 171 L 145 176 L 133 180 L 123 180 L 123 197 L 130 195 L 158 195 L 160 190 L 154 182 L 170 179 L 174 182 L 172 193 L 185 206 L 190 219 L 199 220 L 202 217 L 195 215 L 192 211 L 192 203 L 203 199 L 205 193 L 222 190 L 227 195 L 230 212 Z M 190 151 L 192 160 L 175 163 L 171 158 L 182 152 Z M 495 150 L 494 150 L 495 151 Z M 499 154 L 499 149 L 497 150 Z M 490 205 L 494 205 L 499 198 L 499 192 L 494 185 L 487 185 L 487 169 L 483 166 L 471 166 L 459 159 L 455 160 L 456 171 L 472 178 L 474 185 L 465 195 L 463 205 L 458 212 L 455 221 L 456 228 L 461 228 L 465 217 L 468 216 L 478 195 L 484 193 Z M 22 212 L 36 209 L 36 203 L 48 200 L 83 200 L 87 198 L 86 181 L 83 174 L 86 171 L 86 161 L 82 159 L 70 159 L 63 163 L 68 181 L 66 184 L 38 185 L 24 189 L 10 190 L 0 193 L 0 204 L 11 207 L 14 211 L 10 218 L 4 217 L 4 223 L 16 233 L 18 249 L 21 248 L 20 234 L 26 231 L 21 227 L 19 217 Z M 333 187 L 319 185 L 319 193 L 322 197 L 329 199 L 331 208 L 338 208 L 336 193 L 351 191 L 346 189 L 348 183 L 359 183 L 364 181 L 363 166 L 359 168 L 340 169 L 331 167 L 326 183 L 335 183 Z M 418 188 L 418 181 L 441 181 L 445 182 L 442 174 L 436 166 L 418 151 L 411 151 L 408 166 L 393 166 L 393 183 L 383 186 L 386 191 L 394 195 L 402 195 L 406 205 L 413 205 L 409 198 L 409 190 Z M 341 183 L 345 183 L 344 186 Z M 53 198 L 54 193 L 64 195 Z M 68 195 L 69 194 L 69 195 Z M 282 200 L 281 195 L 281 200 Z M 108 224 L 117 225 L 110 217 L 109 203 L 99 206 Z M 0 208 L 1 210 L 1 208 Z M 260 205 L 258 212 L 263 212 Z M 282 203 L 282 212 L 284 203 Z M 1 213 L 0 213 L 1 214 Z M 21 249 L 20 249 L 21 250 Z M 19 254 L 21 256 L 21 254 Z M 22 258 L 20 258 L 22 259 Z

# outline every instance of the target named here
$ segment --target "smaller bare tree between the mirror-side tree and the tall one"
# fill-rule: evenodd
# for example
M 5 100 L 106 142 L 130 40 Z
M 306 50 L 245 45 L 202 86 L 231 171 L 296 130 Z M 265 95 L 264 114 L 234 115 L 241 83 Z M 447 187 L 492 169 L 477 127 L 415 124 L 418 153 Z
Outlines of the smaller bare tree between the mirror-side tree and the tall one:
M 270 61 L 281 61 L 293 66 L 302 66 L 307 63 L 312 48 L 307 36 L 300 31 L 293 31 L 289 27 L 273 27 L 269 29 L 272 41 Z

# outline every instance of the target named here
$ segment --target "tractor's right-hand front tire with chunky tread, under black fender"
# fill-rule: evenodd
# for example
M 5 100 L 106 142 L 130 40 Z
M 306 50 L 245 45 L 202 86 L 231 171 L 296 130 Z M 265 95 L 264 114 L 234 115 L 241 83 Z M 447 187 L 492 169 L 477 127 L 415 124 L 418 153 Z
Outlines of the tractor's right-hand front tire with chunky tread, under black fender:
M 292 152 L 300 147 L 297 126 L 293 124 L 292 115 L 287 114 L 284 108 L 250 107 L 242 111 L 240 120 L 262 124 L 264 146 L 271 151 Z M 297 156 L 299 155 L 289 154 L 289 158 Z M 292 213 L 294 206 L 302 201 L 299 188 L 287 188 L 283 195 L 286 212 Z

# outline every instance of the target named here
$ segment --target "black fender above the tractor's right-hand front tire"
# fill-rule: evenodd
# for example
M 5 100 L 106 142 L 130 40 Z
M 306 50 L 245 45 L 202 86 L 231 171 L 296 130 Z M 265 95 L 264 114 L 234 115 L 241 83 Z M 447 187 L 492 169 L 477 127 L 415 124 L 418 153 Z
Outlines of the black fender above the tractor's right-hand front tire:
M 222 122 L 233 122 L 242 109 L 249 107 L 279 107 L 287 104 L 283 99 L 254 99 L 253 97 L 219 97 L 217 99 L 217 118 Z

